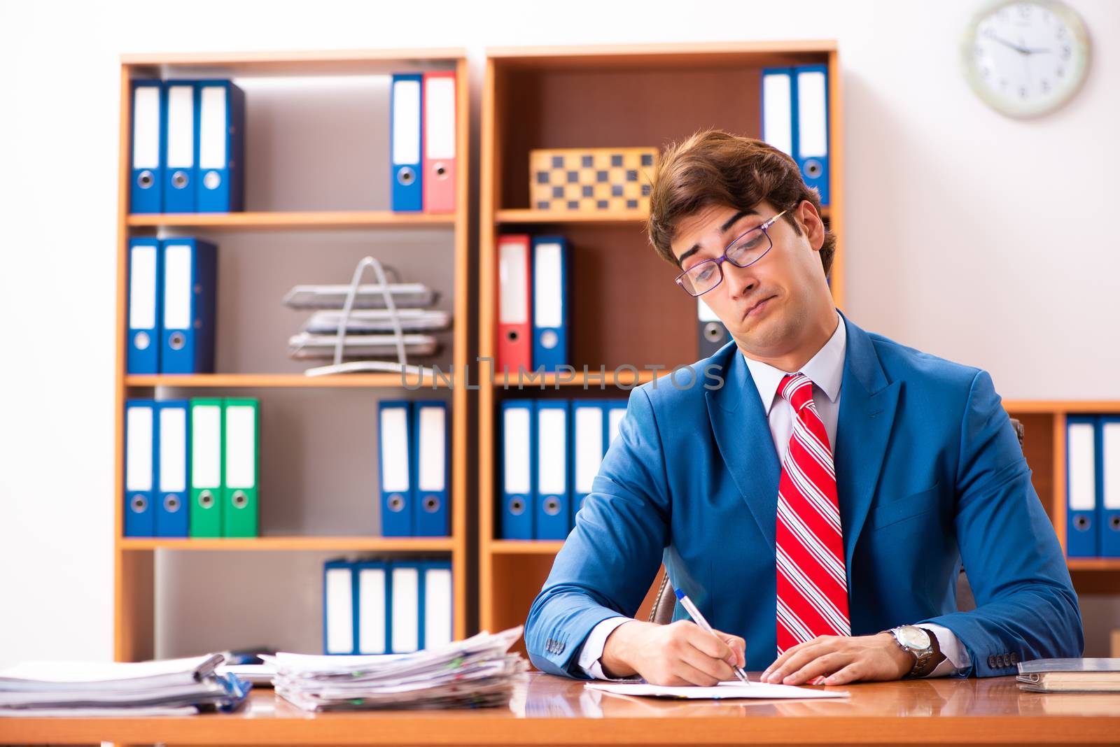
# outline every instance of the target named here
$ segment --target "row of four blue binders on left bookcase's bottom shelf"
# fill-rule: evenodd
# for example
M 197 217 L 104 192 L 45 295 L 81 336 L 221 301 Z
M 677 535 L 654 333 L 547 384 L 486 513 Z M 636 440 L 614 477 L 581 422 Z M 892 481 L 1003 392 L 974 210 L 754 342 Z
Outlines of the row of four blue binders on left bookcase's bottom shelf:
M 411 653 L 455 637 L 450 560 L 330 560 L 323 569 L 323 651 Z

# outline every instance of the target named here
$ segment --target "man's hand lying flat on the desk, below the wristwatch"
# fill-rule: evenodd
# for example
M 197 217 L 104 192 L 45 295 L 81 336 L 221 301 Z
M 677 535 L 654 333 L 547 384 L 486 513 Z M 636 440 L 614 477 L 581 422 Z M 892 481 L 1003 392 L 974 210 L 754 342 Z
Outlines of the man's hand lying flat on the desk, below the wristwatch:
M 900 680 L 914 666 L 914 655 L 902 650 L 890 633 L 819 635 L 787 650 L 763 672 L 762 681 L 822 684 L 860 680 Z M 815 684 L 815 682 L 814 682 Z

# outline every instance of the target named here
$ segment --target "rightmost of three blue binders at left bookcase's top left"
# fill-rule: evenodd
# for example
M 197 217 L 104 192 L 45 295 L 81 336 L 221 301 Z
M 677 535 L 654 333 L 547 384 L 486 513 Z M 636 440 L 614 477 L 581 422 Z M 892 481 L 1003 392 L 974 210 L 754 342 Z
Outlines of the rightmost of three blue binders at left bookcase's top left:
M 245 93 L 231 81 L 198 82 L 198 212 L 245 207 Z

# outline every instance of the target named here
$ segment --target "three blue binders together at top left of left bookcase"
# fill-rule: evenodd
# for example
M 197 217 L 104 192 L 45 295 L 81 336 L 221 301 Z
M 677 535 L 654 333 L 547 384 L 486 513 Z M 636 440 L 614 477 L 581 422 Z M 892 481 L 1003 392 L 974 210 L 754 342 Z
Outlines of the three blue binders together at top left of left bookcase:
M 130 211 L 244 209 L 244 135 L 230 81 L 133 81 Z

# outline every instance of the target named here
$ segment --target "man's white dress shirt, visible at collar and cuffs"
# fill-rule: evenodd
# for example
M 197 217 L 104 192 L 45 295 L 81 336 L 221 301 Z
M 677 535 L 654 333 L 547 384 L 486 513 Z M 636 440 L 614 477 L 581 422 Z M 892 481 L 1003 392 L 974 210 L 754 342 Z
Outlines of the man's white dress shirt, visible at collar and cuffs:
M 816 413 L 824 422 L 824 429 L 829 436 L 829 444 L 836 453 L 837 422 L 840 417 L 840 385 L 843 381 L 843 359 L 848 348 L 848 334 L 844 328 L 843 316 L 837 314 L 837 329 L 824 343 L 824 347 L 816 351 L 808 363 L 801 368 L 813 382 L 813 404 L 816 405 Z M 774 368 L 752 358 L 743 356 L 750 370 L 750 377 L 762 397 L 763 412 L 766 413 L 767 423 L 771 428 L 771 436 L 774 438 L 774 448 L 777 451 L 778 462 L 785 461 L 785 454 L 790 448 L 790 436 L 793 435 L 793 405 L 788 400 L 777 396 L 777 387 L 786 371 Z M 790 371 L 796 374 L 797 371 Z M 606 646 L 607 636 L 623 623 L 629 622 L 631 617 L 608 617 L 594 628 L 584 643 L 584 649 L 579 654 L 579 666 L 588 675 L 599 680 L 610 679 L 603 672 L 603 649 Z M 776 624 L 776 623 L 775 623 Z M 937 664 L 930 677 L 944 677 L 955 674 L 967 669 L 971 664 L 969 652 L 961 645 L 960 639 L 948 627 L 926 623 L 922 625 L 937 636 L 937 644 L 941 653 L 945 655 L 944 661 Z

